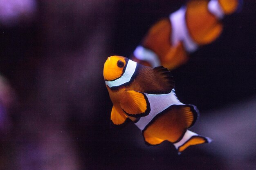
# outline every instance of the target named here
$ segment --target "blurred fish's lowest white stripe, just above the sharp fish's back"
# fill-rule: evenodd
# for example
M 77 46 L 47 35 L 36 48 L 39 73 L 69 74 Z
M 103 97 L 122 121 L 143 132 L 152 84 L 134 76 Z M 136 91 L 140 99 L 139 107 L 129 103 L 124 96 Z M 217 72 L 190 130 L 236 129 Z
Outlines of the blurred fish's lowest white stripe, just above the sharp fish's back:
M 137 46 L 133 55 L 139 59 L 148 62 L 153 68 L 161 66 L 161 62 L 156 53 L 144 48 L 143 46 Z

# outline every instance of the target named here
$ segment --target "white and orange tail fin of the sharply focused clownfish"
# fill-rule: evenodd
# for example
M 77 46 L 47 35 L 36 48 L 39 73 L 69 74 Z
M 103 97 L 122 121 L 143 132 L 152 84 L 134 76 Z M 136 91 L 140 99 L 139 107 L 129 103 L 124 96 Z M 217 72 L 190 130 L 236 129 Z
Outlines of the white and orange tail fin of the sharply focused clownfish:
M 189 146 L 204 143 L 211 143 L 211 139 L 209 137 L 203 137 L 194 132 L 191 132 L 190 130 L 187 130 L 182 139 L 177 143 L 174 143 L 173 145 L 175 146 L 175 148 L 178 151 L 178 154 L 180 155 L 180 153 L 183 152 Z

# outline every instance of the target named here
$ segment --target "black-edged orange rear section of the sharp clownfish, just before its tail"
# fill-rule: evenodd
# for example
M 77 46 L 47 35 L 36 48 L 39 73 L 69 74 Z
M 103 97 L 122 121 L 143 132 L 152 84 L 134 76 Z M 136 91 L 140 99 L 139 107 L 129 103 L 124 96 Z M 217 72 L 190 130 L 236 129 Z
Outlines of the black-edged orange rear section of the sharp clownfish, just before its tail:
M 187 128 L 193 125 L 196 117 L 196 109 L 192 106 L 173 105 L 155 116 L 142 134 L 149 144 L 159 144 L 164 140 L 177 143 L 184 137 Z

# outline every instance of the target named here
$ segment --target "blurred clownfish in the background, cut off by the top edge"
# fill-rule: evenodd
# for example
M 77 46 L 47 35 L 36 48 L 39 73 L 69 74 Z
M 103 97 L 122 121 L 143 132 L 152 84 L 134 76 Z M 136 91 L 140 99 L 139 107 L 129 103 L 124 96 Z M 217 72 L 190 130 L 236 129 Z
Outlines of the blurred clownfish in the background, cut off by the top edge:
M 189 1 L 150 28 L 132 60 L 151 67 L 177 68 L 188 60 L 189 53 L 216 40 L 223 29 L 220 20 L 241 4 L 242 0 Z

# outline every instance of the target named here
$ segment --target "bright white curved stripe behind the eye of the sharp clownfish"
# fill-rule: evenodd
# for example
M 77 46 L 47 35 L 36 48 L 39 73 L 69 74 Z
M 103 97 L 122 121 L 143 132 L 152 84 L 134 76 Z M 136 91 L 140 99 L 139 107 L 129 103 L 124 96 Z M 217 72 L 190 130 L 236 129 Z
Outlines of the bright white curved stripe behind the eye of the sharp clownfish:
M 132 75 L 136 70 L 136 66 L 137 66 L 136 62 L 132 60 L 128 60 L 124 74 L 120 78 L 114 81 L 105 81 L 106 85 L 108 85 L 111 88 L 111 87 L 121 86 L 122 84 L 130 82 L 130 79 L 132 78 Z

